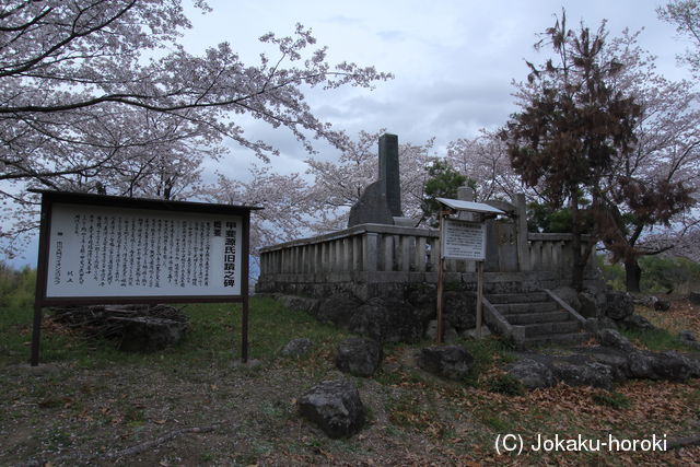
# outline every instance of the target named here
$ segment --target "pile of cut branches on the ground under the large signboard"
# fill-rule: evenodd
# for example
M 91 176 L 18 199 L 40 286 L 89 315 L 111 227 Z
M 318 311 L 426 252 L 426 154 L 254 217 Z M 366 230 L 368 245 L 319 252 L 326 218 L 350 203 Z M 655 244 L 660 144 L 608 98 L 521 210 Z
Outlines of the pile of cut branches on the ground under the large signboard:
M 121 318 L 172 319 L 187 324 L 184 307 L 168 305 L 95 305 L 50 308 L 51 320 L 91 339 L 120 339 L 126 322 Z

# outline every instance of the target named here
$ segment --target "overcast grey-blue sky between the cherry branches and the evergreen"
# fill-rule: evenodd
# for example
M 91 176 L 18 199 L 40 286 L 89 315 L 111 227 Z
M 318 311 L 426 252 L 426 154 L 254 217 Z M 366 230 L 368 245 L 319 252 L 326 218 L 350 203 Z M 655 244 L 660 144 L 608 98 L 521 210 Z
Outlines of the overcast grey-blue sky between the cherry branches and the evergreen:
M 262 51 L 257 38 L 267 32 L 290 35 L 295 23 L 313 30 L 318 45 L 329 48 L 329 62 L 354 61 L 392 72 L 395 79 L 374 90 L 343 89 L 307 94 L 320 118 L 350 135 L 386 128 L 400 142 L 436 138 L 436 152 L 480 128 L 498 128 L 515 110 L 512 81 L 527 75 L 525 59 L 541 61 L 534 50 L 538 33 L 567 11 L 571 27 L 583 21 L 597 28 L 607 20 L 610 36 L 644 30 L 641 45 L 657 56 L 658 69 L 673 79 L 687 78 L 676 55 L 687 43 L 673 26 L 657 20 L 661 1 L 312 1 L 210 0 L 213 11 L 190 10 L 194 28 L 185 37 L 191 51 L 229 42 L 242 58 L 256 62 Z M 283 173 L 303 172 L 306 153 L 288 132 L 249 121 L 256 139 L 277 144 L 273 161 Z M 325 148 L 322 157 L 338 154 Z M 225 160 L 225 172 L 245 177 L 249 157 L 237 148 Z M 444 151 L 443 151 L 444 152 Z

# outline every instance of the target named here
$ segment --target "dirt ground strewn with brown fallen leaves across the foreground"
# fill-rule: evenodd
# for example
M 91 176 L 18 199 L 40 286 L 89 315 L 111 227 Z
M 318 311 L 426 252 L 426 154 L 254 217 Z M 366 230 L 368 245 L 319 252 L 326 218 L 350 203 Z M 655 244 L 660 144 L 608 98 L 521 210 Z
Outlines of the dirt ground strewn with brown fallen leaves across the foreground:
M 675 302 L 652 320 L 682 317 L 700 335 L 700 310 Z M 72 362 L 0 369 L 0 465 L 700 465 L 700 447 L 668 452 L 528 452 L 499 455 L 499 435 L 607 440 L 700 433 L 700 381 L 628 382 L 615 393 L 557 386 L 524 396 L 440 381 L 417 370 L 417 346 L 386 349 L 374 378 L 351 378 L 365 429 L 329 440 L 301 419 L 296 398 L 347 377 L 332 349 L 248 365 Z M 502 363 L 501 363 L 502 365 Z M 499 363 L 490 372 L 498 373 Z M 607 399 L 606 399 L 607 397 Z M 615 397 L 626 404 L 609 402 Z M 602 404 L 600 400 L 604 402 Z M 606 402 L 606 400 L 608 400 Z

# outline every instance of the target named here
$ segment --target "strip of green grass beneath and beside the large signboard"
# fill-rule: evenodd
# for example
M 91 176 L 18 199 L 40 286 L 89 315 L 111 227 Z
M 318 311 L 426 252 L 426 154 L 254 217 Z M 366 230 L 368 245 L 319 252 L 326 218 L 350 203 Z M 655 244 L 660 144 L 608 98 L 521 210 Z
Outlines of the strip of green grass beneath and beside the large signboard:
M 92 340 L 79 331 L 59 326 L 45 326 L 42 331 L 43 362 L 71 362 L 79 367 L 107 367 L 114 364 L 200 369 L 230 364 L 241 358 L 241 305 L 187 305 L 187 337 L 178 346 L 154 353 L 122 352 L 115 342 Z M 25 363 L 30 358 L 33 306 L 0 308 L 0 364 Z M 330 351 L 347 337 L 332 326 L 323 325 L 304 312 L 285 308 L 268 297 L 252 297 L 248 322 L 248 357 L 256 360 L 275 358 L 291 339 L 310 338 L 314 350 L 308 361 Z

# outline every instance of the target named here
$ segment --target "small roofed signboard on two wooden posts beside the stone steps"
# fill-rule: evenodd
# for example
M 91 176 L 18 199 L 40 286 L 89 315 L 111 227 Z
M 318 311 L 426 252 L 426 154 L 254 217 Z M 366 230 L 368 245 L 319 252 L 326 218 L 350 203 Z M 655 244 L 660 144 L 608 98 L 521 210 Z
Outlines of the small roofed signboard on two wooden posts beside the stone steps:
M 504 212 L 492 208 L 489 205 L 463 201 L 450 198 L 436 198 L 438 201 L 448 208 L 440 211 L 440 260 L 438 265 L 438 342 L 442 343 L 444 338 L 443 326 L 443 282 L 444 282 L 444 259 L 463 259 L 477 261 L 477 310 L 476 310 L 476 335 L 481 337 L 482 326 L 482 303 L 483 303 L 483 260 L 486 259 L 486 224 L 485 215 L 494 217 Z M 480 218 L 480 222 L 462 221 L 450 219 L 451 212 L 474 212 Z

